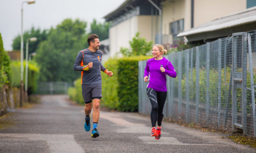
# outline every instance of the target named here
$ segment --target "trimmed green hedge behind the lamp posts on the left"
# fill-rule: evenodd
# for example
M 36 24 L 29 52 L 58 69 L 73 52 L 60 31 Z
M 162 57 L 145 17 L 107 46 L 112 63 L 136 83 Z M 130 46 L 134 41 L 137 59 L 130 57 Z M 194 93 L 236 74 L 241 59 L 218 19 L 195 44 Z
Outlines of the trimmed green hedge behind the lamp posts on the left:
M 21 83 L 21 63 L 19 61 L 12 61 L 11 67 L 11 86 L 20 87 Z M 25 75 L 26 75 L 26 62 L 23 63 L 23 83 L 25 87 Z M 39 67 L 35 61 L 28 61 L 28 95 L 36 92 L 39 77 Z

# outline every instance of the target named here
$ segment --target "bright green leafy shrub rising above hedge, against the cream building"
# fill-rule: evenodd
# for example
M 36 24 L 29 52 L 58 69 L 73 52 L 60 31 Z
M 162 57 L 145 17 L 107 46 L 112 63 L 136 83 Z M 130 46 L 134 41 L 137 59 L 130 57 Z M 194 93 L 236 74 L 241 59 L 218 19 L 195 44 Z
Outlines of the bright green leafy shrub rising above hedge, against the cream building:
M 129 41 L 132 51 L 129 51 L 126 47 L 121 47 L 121 53 L 124 56 L 138 56 L 147 55 L 147 53 L 152 49 L 153 42 L 147 42 L 146 38 L 139 37 L 140 32 L 137 32 L 132 41 Z

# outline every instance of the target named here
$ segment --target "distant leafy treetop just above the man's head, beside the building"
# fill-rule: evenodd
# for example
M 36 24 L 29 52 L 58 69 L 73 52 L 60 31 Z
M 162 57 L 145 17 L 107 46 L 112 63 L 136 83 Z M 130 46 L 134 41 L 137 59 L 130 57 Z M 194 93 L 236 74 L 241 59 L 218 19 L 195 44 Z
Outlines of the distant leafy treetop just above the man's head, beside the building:
M 97 23 L 96 19 L 93 19 L 91 23 L 91 32 L 90 34 L 96 34 L 99 36 L 100 40 L 109 38 L 109 23 Z

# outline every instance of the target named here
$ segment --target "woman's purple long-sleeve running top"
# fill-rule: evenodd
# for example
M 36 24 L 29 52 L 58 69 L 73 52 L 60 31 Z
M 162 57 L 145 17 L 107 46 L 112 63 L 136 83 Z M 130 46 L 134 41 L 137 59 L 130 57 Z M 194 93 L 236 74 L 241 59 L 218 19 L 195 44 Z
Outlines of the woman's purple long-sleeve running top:
M 160 66 L 163 65 L 165 72 L 161 72 Z M 150 76 L 149 76 L 150 74 Z M 144 77 L 149 76 L 147 88 L 152 88 L 156 91 L 166 92 L 166 74 L 173 78 L 176 77 L 176 71 L 169 60 L 163 57 L 161 60 L 150 58 L 147 60 L 147 65 L 144 70 Z

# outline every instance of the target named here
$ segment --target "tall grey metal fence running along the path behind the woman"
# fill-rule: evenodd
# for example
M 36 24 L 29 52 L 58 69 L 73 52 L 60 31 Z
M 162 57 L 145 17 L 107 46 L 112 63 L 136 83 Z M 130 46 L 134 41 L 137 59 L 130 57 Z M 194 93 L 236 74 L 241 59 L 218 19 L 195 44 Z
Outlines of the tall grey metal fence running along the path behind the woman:
M 235 33 L 166 58 L 177 72 L 167 77 L 164 116 L 184 123 L 256 137 L 256 31 Z M 139 62 L 139 112 L 150 114 L 147 60 Z M 150 77 L 149 77 L 150 79 Z

